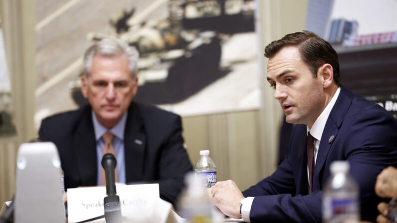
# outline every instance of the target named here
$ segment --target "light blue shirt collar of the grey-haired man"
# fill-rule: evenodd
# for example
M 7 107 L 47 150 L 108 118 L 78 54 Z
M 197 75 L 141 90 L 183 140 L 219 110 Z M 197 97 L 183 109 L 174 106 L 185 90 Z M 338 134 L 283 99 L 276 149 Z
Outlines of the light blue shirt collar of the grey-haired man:
M 94 111 L 91 111 L 92 116 L 92 123 L 94 124 L 94 132 L 95 132 L 95 140 L 99 140 L 103 134 L 106 132 L 113 133 L 114 136 L 119 138 L 120 140 L 124 140 L 124 129 L 125 129 L 125 122 L 127 120 L 127 112 L 124 113 L 123 117 L 120 121 L 111 129 L 107 129 L 103 125 L 101 125 L 96 118 Z

